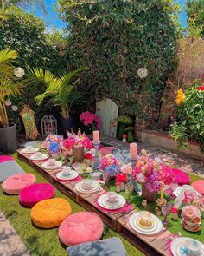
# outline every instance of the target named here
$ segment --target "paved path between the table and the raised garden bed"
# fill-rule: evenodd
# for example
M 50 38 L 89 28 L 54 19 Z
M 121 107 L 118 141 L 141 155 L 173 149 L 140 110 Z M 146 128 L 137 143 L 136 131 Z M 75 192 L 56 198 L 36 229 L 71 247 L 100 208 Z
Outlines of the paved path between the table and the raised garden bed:
M 129 143 L 124 143 L 105 135 L 100 136 L 100 141 L 116 148 L 129 149 Z M 145 148 L 148 152 L 152 153 L 154 157 L 168 161 L 171 166 L 179 167 L 184 171 L 204 177 L 204 162 L 201 160 L 194 159 L 186 154 L 173 152 L 169 149 L 151 146 L 143 142 L 137 142 L 137 146 L 139 152 L 141 149 Z

